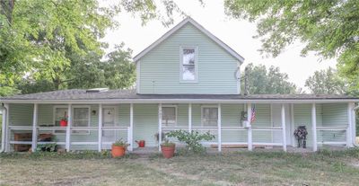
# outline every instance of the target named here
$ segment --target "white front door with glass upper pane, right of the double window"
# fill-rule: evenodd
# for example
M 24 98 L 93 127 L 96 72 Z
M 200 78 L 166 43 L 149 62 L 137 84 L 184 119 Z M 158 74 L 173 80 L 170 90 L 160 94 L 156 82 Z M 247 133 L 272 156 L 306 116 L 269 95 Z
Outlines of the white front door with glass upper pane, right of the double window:
M 115 107 L 105 107 L 102 109 L 102 127 L 115 127 L 116 126 L 116 108 Z M 106 130 L 102 131 L 102 141 L 103 142 L 114 142 L 117 138 L 116 130 Z M 109 146 L 109 145 L 104 145 Z

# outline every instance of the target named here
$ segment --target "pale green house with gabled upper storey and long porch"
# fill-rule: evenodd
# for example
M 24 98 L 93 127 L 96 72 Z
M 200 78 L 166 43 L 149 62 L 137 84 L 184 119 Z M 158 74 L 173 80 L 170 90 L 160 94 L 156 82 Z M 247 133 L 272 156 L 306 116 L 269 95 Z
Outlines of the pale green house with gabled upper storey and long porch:
M 236 51 L 191 18 L 180 22 L 135 58 L 136 90 L 64 90 L 14 95 L 4 106 L 3 149 L 56 136 L 67 151 L 109 148 L 117 138 L 159 146 L 162 133 L 210 131 L 207 146 L 297 146 L 293 132 L 308 131 L 307 146 L 355 145 L 355 102 L 345 95 L 241 95 Z M 247 117 L 246 117 L 247 115 Z M 64 120 L 66 119 L 67 123 Z M 160 142 L 154 137 L 158 134 Z

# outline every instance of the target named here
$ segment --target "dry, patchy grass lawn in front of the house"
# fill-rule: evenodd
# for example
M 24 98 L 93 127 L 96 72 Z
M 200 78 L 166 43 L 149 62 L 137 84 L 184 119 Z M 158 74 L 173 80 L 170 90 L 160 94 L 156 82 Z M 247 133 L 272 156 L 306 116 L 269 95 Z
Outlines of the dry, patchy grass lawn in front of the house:
M 359 185 L 359 149 L 316 154 L 0 155 L 0 185 Z

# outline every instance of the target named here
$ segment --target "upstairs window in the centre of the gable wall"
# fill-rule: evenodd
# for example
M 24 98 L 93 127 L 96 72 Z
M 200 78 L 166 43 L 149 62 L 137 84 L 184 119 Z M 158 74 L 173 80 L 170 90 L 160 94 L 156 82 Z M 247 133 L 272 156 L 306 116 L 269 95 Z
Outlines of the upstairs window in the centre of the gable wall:
M 197 48 L 180 48 L 180 80 L 181 82 L 197 82 Z

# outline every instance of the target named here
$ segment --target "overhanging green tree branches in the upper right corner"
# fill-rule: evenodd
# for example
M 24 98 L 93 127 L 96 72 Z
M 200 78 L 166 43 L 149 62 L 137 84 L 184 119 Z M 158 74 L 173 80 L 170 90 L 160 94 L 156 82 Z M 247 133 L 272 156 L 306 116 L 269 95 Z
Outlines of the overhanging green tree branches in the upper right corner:
M 225 0 L 224 6 L 236 19 L 257 22 L 262 52 L 276 57 L 300 40 L 303 56 L 338 57 L 341 75 L 359 88 L 359 1 Z

